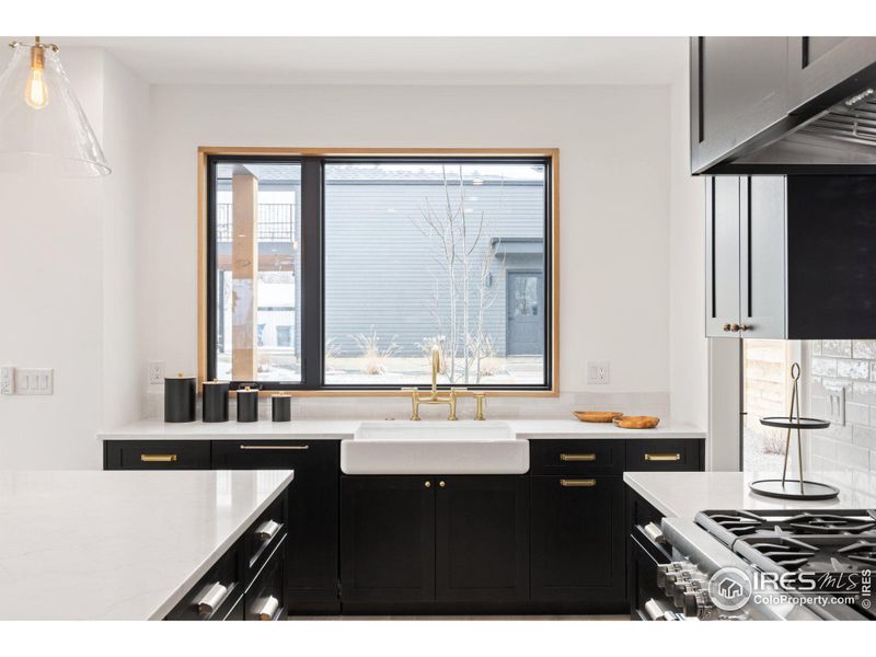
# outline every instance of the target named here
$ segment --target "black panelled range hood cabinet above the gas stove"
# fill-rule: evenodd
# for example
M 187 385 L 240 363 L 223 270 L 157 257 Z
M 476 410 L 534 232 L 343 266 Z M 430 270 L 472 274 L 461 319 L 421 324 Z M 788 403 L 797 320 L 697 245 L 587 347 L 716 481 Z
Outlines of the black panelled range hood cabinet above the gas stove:
M 835 166 L 873 166 L 876 158 L 867 149 L 857 158 L 842 154 L 849 140 L 833 140 L 831 129 L 819 131 L 827 143 L 800 141 L 792 132 L 874 80 L 876 37 L 691 37 L 691 172 L 791 173 L 817 166 L 833 173 Z M 785 143 L 786 137 L 792 142 Z

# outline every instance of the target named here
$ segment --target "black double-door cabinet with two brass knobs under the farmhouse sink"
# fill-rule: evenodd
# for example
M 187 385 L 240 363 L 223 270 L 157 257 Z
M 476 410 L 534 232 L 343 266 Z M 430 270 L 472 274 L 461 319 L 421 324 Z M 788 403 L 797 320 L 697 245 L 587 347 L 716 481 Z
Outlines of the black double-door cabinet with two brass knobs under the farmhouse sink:
M 342 476 L 345 612 L 488 612 L 526 602 L 527 480 Z

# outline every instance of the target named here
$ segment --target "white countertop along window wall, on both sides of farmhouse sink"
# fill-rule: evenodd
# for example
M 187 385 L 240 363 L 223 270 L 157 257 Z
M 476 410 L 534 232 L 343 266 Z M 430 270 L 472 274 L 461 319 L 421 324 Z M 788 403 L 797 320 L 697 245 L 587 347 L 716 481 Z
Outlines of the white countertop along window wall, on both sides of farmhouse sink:
M 502 419 L 518 438 L 705 438 L 705 431 L 692 425 L 664 420 L 654 429 L 621 429 L 612 424 L 569 419 Z M 145 419 L 117 429 L 101 431 L 99 440 L 239 440 L 308 438 L 337 440 L 351 438 L 361 419 L 295 419 L 292 422 L 223 423 L 189 422 L 168 424 Z M 369 420 L 373 422 L 373 420 Z M 399 420 L 405 422 L 405 420 Z M 431 422 L 431 420 L 424 420 Z M 434 420 L 446 422 L 446 420 Z

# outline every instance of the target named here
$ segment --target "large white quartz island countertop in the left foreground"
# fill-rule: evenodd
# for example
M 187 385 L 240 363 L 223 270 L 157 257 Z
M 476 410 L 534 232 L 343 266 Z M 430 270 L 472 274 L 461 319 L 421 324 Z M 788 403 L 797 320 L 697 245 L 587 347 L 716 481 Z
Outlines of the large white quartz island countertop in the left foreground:
M 0 620 L 162 619 L 291 470 L 0 472 Z

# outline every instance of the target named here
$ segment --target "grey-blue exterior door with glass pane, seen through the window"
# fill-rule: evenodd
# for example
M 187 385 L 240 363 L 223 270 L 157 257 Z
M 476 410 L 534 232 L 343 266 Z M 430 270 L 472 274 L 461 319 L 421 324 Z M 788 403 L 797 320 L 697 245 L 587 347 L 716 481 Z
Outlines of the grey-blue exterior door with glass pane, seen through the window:
M 507 309 L 507 354 L 544 354 L 544 274 L 508 272 Z

